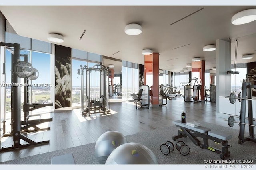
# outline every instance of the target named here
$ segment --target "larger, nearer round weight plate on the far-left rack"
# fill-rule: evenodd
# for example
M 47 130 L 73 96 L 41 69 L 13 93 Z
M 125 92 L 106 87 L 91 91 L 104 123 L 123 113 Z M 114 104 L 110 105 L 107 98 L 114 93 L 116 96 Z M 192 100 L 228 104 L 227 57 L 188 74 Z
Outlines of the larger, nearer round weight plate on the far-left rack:
M 14 65 L 13 71 L 20 78 L 28 78 L 33 74 L 33 67 L 26 61 L 18 61 Z

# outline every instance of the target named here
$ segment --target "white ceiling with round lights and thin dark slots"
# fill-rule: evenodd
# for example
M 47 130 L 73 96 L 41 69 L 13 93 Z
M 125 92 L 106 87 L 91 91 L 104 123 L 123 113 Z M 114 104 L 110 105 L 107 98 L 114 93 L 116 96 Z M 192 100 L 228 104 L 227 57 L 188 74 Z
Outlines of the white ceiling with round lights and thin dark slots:
M 231 24 L 234 14 L 250 8 L 256 6 L 0 6 L 18 35 L 48 41 L 48 33 L 60 33 L 64 43 L 59 45 L 138 64 L 144 64 L 142 49 L 150 48 L 160 54 L 159 68 L 173 72 L 180 72 L 193 57 L 202 57 L 206 69 L 212 69 L 215 51 L 202 48 L 229 37 L 232 63 L 236 39 L 237 63 L 256 61 L 256 21 Z M 129 23 L 140 24 L 142 33 L 126 35 Z M 248 53 L 254 59 L 240 59 Z

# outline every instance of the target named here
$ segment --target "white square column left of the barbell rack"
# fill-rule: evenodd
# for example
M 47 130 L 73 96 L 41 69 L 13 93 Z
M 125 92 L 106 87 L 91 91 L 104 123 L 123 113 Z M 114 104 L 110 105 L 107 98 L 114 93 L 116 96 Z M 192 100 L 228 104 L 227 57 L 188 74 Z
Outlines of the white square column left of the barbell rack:
M 229 43 L 216 40 L 216 113 L 220 111 L 219 96 L 229 96 L 231 91 L 231 75 L 226 72 L 231 68 L 231 56 L 229 54 Z

